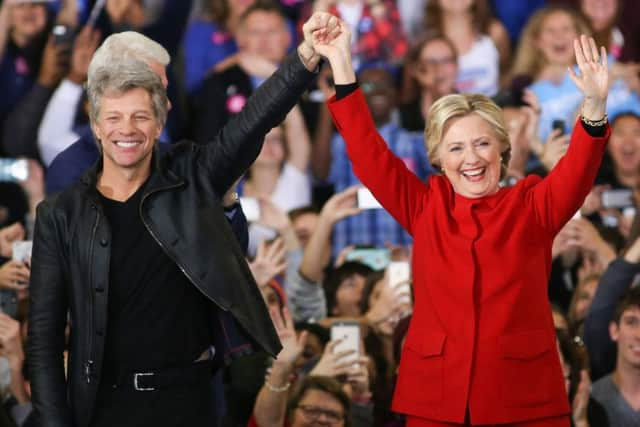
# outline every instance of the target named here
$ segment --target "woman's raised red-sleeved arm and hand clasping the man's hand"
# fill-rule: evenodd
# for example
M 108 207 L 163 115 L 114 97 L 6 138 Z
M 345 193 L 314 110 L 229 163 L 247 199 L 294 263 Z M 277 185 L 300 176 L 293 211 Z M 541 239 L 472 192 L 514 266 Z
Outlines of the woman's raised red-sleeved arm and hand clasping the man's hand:
M 382 206 L 412 233 L 414 219 L 421 209 L 427 186 L 407 169 L 378 134 L 371 114 L 356 82 L 351 64 L 351 34 L 340 22 L 334 33 L 314 33 L 316 52 L 326 57 L 333 70 L 337 99 L 329 103 L 336 128 L 342 134 L 347 155 L 356 176 L 367 186 Z M 344 92 L 348 94 L 345 95 Z

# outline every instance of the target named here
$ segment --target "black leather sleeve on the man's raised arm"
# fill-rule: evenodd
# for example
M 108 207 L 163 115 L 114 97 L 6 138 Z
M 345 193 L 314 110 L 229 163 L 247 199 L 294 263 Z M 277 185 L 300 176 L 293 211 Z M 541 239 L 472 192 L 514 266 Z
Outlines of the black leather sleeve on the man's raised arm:
M 297 52 L 251 95 L 243 110 L 227 123 L 216 139 L 194 146 L 200 165 L 222 196 L 256 159 L 264 136 L 279 125 L 307 89 L 315 73 L 308 71 Z

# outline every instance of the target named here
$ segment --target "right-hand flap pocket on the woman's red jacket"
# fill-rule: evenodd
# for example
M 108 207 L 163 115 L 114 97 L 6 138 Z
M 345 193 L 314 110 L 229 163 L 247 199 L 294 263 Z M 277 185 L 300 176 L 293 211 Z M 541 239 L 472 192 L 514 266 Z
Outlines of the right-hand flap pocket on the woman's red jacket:
M 555 341 L 546 330 L 503 335 L 499 340 L 501 392 L 507 407 L 548 403 L 557 394 Z

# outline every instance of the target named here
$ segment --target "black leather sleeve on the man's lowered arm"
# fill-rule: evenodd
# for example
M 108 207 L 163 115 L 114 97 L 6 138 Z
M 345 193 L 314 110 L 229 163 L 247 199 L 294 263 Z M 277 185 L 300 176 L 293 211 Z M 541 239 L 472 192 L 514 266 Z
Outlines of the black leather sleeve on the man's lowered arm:
M 41 427 L 72 425 L 63 362 L 68 298 L 58 227 L 48 203 L 41 203 L 33 239 L 27 351 L 34 416 Z

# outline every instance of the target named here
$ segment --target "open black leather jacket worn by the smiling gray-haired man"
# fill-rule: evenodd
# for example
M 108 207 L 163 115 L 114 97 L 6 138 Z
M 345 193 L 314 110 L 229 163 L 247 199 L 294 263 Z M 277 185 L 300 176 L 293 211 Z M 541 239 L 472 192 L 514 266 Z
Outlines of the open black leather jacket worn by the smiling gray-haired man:
M 272 355 L 280 351 L 280 342 L 220 201 L 255 160 L 264 135 L 284 120 L 313 76 L 294 53 L 214 141 L 177 144 L 165 154 L 156 151 L 140 202 L 145 227 L 215 304 L 218 320 L 237 322 L 254 345 Z M 96 190 L 100 168 L 98 163 L 81 183 L 38 206 L 27 357 L 41 426 L 87 426 L 95 404 L 110 256 L 109 224 Z M 68 379 L 63 364 L 67 313 Z M 214 345 L 217 353 L 227 356 L 245 347 L 219 340 Z

